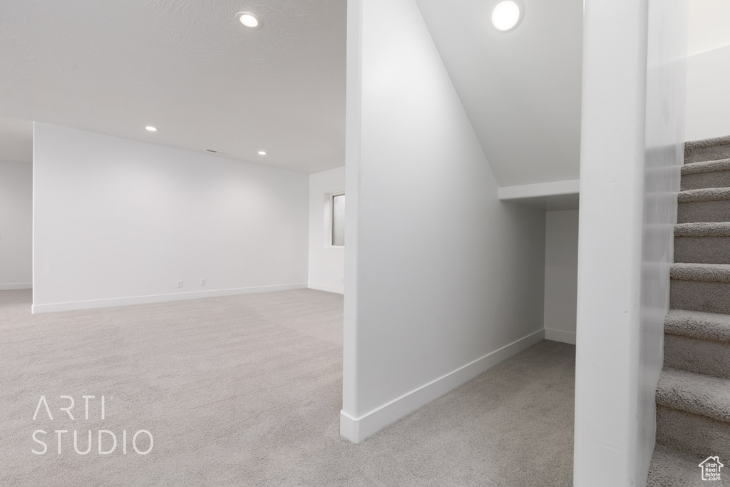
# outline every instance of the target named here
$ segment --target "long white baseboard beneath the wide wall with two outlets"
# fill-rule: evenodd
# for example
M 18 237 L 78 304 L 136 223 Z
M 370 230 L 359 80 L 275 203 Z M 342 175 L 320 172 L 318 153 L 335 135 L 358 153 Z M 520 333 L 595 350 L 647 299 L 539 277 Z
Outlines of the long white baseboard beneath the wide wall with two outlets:
M 305 289 L 306 283 L 261 285 L 253 288 L 213 289 L 210 291 L 191 291 L 175 294 L 153 294 L 151 296 L 131 296 L 126 298 L 92 299 L 90 301 L 73 301 L 51 304 L 34 304 L 31 312 L 54 312 L 70 310 L 88 310 L 91 308 L 126 306 L 128 304 L 148 304 L 166 301 L 182 301 L 183 299 L 214 298 L 217 296 L 233 296 L 234 294 L 266 293 L 270 291 L 288 291 L 290 289 Z

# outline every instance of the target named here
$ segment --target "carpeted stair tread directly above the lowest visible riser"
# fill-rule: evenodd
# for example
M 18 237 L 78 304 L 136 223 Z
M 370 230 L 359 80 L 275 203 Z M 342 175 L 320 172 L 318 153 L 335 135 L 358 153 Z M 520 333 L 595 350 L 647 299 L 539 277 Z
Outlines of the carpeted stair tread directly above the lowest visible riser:
M 656 404 L 730 423 L 730 380 L 664 367 Z

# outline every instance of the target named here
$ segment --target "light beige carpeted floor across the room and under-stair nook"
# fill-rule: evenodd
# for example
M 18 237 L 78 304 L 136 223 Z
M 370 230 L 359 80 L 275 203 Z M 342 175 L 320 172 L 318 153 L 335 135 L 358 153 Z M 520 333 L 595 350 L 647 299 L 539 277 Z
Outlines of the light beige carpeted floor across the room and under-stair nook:
M 0 291 L 1 486 L 572 485 L 572 345 L 540 342 L 354 445 L 339 437 L 342 296 L 30 304 Z M 33 421 L 42 395 L 53 421 L 43 404 Z M 118 439 L 110 454 L 99 429 Z M 69 432 L 60 455 L 55 430 Z M 91 453 L 74 451 L 74 430 L 80 451 L 92 431 Z

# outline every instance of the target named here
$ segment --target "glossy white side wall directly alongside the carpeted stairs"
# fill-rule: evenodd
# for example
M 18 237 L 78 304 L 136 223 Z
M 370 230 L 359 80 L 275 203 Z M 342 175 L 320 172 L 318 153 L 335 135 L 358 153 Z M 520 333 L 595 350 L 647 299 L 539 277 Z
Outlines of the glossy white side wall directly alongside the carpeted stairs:
M 643 486 L 656 440 L 656 384 L 664 367 L 664 317 L 674 263 L 677 193 L 684 164 L 687 0 L 649 1 L 642 201 L 636 478 Z

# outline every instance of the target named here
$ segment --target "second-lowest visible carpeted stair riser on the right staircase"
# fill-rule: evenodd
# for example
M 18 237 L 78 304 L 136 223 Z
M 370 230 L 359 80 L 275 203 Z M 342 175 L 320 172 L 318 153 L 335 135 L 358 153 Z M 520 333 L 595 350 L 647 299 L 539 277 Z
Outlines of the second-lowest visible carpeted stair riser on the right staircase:
M 665 334 L 664 367 L 730 379 L 730 343 Z

